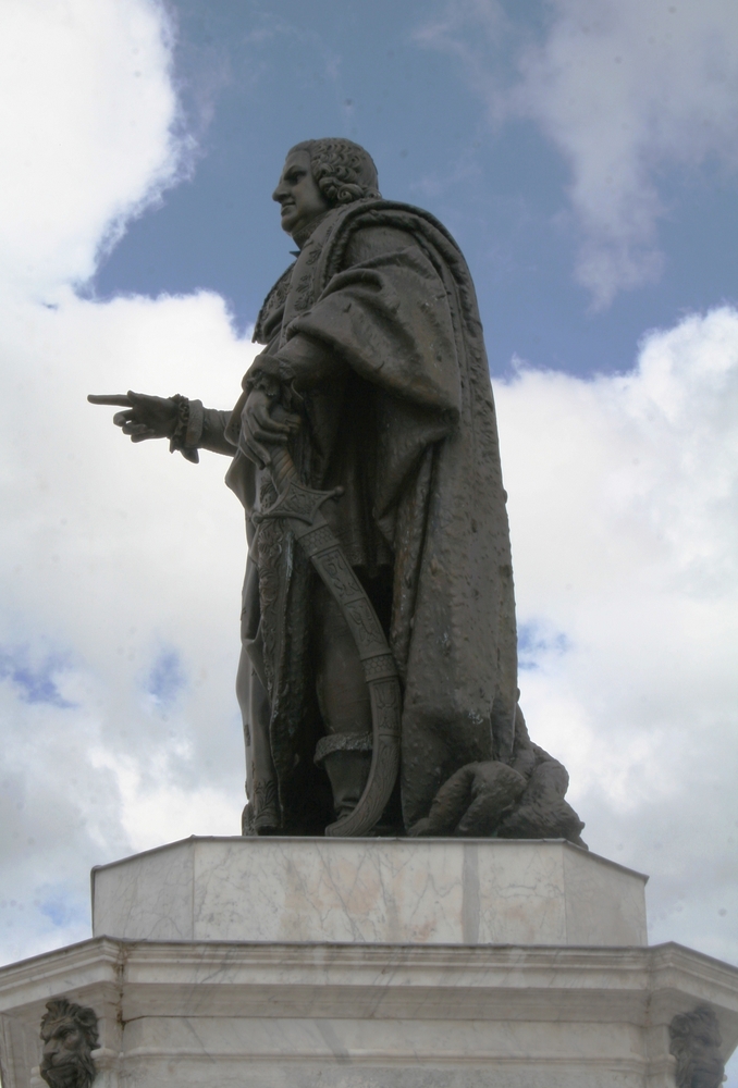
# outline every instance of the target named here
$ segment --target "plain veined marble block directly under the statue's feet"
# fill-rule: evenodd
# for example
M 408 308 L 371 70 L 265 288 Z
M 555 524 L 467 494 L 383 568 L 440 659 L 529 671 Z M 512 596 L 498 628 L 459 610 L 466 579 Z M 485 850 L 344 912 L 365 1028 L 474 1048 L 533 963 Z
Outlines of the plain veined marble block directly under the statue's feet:
M 93 870 L 131 940 L 644 944 L 647 878 L 563 840 L 185 839 Z

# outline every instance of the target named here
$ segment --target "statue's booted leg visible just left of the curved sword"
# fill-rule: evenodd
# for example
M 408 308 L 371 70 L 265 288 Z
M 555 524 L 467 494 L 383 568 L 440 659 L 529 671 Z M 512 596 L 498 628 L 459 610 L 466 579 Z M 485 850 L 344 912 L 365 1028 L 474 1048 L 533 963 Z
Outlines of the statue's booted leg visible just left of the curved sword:
M 316 750 L 333 790 L 336 817 L 350 812 L 371 764 L 371 705 L 353 635 L 339 605 L 317 582 L 313 595 L 313 662 L 325 735 Z

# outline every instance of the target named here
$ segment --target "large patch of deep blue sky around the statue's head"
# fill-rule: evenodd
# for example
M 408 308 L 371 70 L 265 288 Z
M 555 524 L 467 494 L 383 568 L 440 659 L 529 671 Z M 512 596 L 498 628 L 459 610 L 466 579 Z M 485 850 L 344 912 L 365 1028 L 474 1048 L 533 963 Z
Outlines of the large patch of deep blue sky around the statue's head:
M 573 152 L 551 138 L 558 128 L 514 106 L 526 51 L 549 39 L 556 5 L 170 0 L 168 8 L 183 118 L 199 150 L 187 183 L 127 224 L 88 285 L 93 297 L 209 288 L 246 330 L 292 260 L 294 244 L 271 200 L 284 156 L 298 140 L 333 135 L 367 147 L 385 197 L 427 208 L 457 238 L 475 279 L 493 375 L 509 374 L 514 356 L 579 375 L 620 372 L 632 364 L 644 329 L 738 297 L 730 170 L 706 161 L 685 170 L 680 160 L 656 156 L 662 169 L 651 177 L 644 163 L 643 186 L 669 213 L 656 217 L 653 237 L 647 230 L 637 242 L 648 248 L 657 237 L 661 274 L 592 310 L 575 275 L 582 225 L 570 205 Z M 613 16 L 619 8 L 628 5 L 615 3 Z M 655 20 L 664 35 L 688 17 L 669 11 L 647 12 L 644 25 Z M 624 28 L 630 18 L 622 16 Z M 635 57 L 638 27 L 634 34 Z M 661 86 L 659 73 L 653 79 Z M 622 102 L 617 86 L 613 109 Z M 501 102 L 508 102 L 504 116 Z M 631 120 L 608 116 L 605 132 Z M 571 125 L 578 133 L 578 115 Z M 599 148 L 601 134 L 591 136 Z M 640 176 L 640 160 L 634 170 Z M 610 208 L 611 197 L 603 199 Z

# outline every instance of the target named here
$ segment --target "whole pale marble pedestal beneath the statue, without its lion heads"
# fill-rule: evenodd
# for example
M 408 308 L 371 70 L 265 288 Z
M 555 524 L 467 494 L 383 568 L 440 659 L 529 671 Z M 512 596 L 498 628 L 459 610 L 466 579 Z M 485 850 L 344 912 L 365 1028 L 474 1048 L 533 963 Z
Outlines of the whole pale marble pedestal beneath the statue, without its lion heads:
M 644 878 L 562 842 L 193 839 L 94 871 L 91 940 L 0 970 L 3 1088 L 44 1004 L 95 1088 L 674 1088 L 668 1024 L 738 969 L 645 945 Z

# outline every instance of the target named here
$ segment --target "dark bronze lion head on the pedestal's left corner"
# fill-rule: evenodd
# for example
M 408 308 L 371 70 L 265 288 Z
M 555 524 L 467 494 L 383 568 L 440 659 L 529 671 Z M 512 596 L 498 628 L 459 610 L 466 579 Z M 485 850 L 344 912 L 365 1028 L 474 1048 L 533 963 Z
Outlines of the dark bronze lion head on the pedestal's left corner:
M 50 1088 L 89 1088 L 95 1079 L 97 1015 L 66 998 L 47 1002 L 41 1019 L 40 1074 Z

